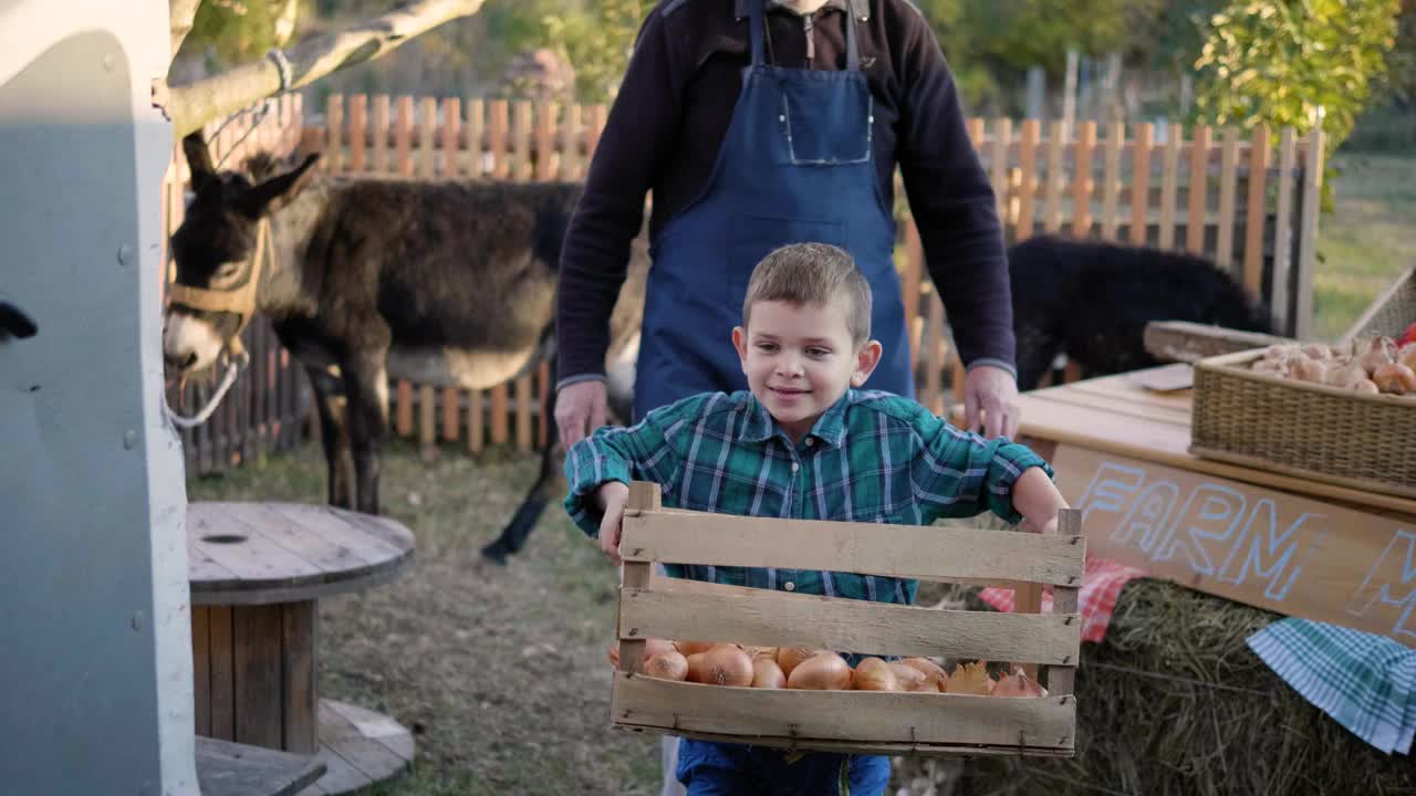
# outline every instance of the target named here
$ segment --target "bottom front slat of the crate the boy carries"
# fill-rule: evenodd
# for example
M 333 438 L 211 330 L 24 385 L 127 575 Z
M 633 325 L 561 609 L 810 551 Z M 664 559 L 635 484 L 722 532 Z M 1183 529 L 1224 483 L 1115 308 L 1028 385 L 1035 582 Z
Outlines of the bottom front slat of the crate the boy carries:
M 749 735 L 753 744 L 796 738 L 801 745 L 871 739 L 1070 748 L 1075 707 L 1075 697 L 733 688 L 617 673 L 612 710 L 622 725 Z

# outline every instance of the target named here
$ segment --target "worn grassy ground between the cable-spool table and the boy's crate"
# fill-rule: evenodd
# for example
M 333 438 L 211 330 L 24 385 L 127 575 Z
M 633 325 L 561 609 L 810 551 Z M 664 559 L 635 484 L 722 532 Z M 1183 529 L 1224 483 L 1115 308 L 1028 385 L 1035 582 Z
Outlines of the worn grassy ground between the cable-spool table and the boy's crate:
M 657 737 L 609 728 L 617 572 L 547 510 L 506 567 L 479 548 L 501 530 L 537 460 L 446 452 L 425 465 L 395 443 L 385 513 L 418 538 L 389 585 L 320 602 L 320 693 L 412 728 L 415 771 L 378 796 L 657 793 Z M 317 443 L 194 479 L 190 500 L 321 503 Z

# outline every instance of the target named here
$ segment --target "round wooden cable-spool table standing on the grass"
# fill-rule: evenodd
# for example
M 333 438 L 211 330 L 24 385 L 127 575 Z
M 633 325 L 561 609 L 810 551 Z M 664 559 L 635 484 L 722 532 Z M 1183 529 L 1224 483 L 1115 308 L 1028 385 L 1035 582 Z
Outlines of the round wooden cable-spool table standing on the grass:
M 197 734 L 314 755 L 304 793 L 344 793 L 406 769 L 412 735 L 388 717 L 320 700 L 320 598 L 387 584 L 413 537 L 327 506 L 193 503 L 187 508 Z

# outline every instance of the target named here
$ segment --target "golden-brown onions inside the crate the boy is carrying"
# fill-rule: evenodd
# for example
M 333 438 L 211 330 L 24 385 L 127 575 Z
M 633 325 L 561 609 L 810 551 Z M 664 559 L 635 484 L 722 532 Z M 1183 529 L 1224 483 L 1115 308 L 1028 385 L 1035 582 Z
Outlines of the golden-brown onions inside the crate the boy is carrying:
M 619 644 L 610 646 L 619 666 Z M 1045 697 L 1046 688 L 1022 667 L 994 680 L 987 661 L 960 663 L 950 677 L 927 657 L 886 661 L 865 657 L 855 669 L 831 650 L 753 647 L 716 642 L 646 639 L 643 671 L 660 680 L 735 686 L 739 688 L 799 688 L 813 691 L 910 691 L 994 697 Z

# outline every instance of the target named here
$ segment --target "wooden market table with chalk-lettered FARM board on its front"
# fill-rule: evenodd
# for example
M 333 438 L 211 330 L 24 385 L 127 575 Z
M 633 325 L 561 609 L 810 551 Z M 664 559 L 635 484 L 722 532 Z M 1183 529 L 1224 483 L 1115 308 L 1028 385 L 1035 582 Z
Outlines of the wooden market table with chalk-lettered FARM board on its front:
M 1087 554 L 1290 616 L 1416 646 L 1416 500 L 1201 459 L 1188 365 L 1021 397 L 1020 436 L 1083 510 Z

